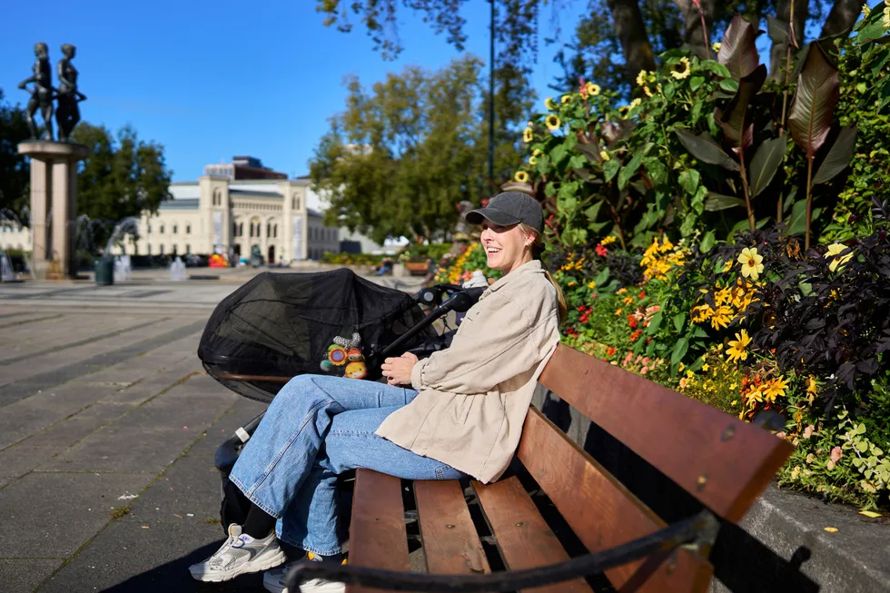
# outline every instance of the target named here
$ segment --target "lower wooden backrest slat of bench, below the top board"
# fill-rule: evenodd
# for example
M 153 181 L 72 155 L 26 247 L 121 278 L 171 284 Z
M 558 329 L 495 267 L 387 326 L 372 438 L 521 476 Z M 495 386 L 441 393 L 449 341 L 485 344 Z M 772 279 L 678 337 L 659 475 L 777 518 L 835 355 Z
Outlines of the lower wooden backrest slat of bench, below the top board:
M 517 455 L 591 552 L 614 548 L 666 527 L 539 410 L 532 408 L 526 416 Z M 606 576 L 619 588 L 640 564 L 642 560 L 612 568 Z M 670 574 L 663 564 L 638 590 L 662 593 L 707 588 L 712 568 L 706 559 L 680 550 L 676 564 L 671 564 Z

